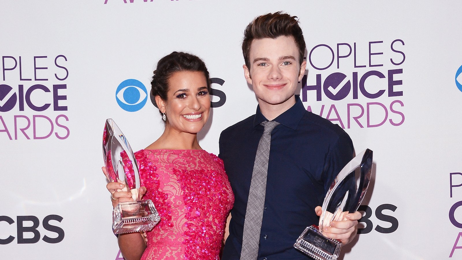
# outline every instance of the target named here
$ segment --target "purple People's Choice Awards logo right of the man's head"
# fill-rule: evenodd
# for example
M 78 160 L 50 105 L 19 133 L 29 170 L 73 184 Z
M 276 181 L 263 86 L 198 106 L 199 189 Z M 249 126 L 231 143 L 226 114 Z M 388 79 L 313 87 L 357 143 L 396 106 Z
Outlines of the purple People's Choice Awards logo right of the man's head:
M 307 47 L 310 73 L 301 80 L 300 95 L 306 110 L 343 129 L 403 124 L 404 41 L 332 45 Z M 337 102 L 342 100 L 347 103 Z

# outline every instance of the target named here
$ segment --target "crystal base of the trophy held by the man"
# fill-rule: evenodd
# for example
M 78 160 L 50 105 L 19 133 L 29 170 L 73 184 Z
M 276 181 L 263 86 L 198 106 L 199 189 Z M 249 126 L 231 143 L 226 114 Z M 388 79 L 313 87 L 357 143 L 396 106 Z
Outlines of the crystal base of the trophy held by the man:
M 315 260 L 337 260 L 342 243 L 319 232 L 317 226 L 306 228 L 293 245 Z

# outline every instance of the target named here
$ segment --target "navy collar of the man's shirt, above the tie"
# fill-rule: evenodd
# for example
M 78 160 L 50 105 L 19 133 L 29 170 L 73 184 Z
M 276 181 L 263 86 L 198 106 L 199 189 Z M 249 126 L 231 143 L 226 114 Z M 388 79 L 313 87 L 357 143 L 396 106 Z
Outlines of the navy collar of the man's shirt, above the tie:
M 291 108 L 287 109 L 284 113 L 280 114 L 277 118 L 274 118 L 273 121 L 296 130 L 298 123 L 302 119 L 305 112 L 306 110 L 303 106 L 302 100 L 300 100 L 299 95 L 295 95 L 295 104 L 292 105 Z M 258 105 L 254 118 L 254 127 L 261 124 L 263 121 L 268 121 L 268 119 L 263 116 L 260 111 L 260 105 Z

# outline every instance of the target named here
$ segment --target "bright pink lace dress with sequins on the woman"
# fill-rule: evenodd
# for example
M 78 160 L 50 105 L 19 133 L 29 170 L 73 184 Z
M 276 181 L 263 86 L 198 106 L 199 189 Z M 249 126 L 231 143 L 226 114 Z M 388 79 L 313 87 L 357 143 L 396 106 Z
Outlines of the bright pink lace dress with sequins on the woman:
M 141 259 L 218 260 L 234 202 L 223 161 L 204 150 L 140 150 L 135 157 L 143 198 L 160 215 Z

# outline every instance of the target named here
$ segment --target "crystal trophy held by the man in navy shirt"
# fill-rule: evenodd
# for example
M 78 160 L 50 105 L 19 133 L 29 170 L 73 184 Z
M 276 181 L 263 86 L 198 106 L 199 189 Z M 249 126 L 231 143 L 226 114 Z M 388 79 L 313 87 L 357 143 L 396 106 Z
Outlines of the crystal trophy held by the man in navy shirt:
M 336 260 L 342 243 L 322 235 L 331 221 L 343 221 L 345 215 L 358 210 L 369 186 L 372 151 L 365 149 L 353 158 L 335 177 L 322 203 L 319 226 L 307 227 L 293 245 L 315 260 Z

